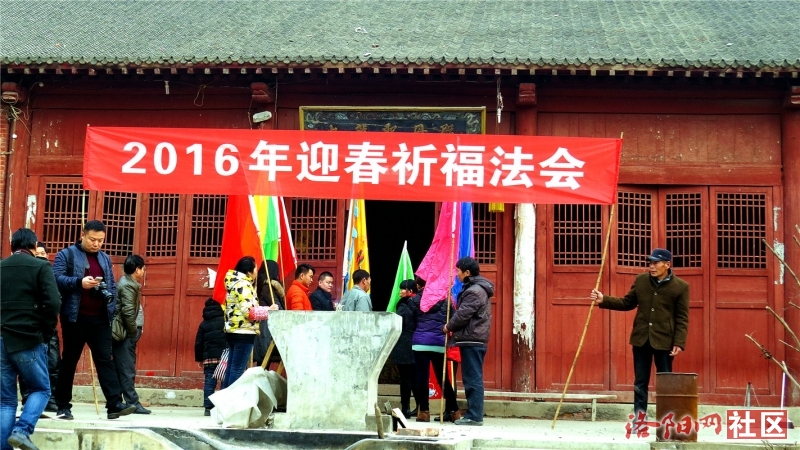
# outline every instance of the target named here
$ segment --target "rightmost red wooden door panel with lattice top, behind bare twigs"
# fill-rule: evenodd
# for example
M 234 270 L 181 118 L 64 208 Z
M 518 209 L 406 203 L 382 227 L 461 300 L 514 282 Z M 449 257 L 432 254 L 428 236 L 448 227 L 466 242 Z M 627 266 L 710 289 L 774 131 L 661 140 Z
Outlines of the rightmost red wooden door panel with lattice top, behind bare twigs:
M 711 385 L 719 394 L 739 394 L 748 382 L 757 395 L 774 394 L 777 373 L 747 340 L 752 335 L 783 359 L 782 333 L 764 311 L 776 309 L 771 188 L 711 188 L 710 360 Z M 780 311 L 780 308 L 778 308 Z

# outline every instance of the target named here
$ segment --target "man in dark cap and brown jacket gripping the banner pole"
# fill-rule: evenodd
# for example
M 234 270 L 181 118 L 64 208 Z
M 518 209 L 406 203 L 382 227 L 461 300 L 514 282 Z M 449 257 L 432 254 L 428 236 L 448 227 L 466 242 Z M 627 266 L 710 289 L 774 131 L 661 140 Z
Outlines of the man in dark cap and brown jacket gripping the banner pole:
M 636 276 L 625 297 L 604 296 L 593 289 L 590 298 L 601 308 L 630 311 L 633 319 L 633 408 L 647 415 L 647 385 L 653 361 L 657 372 L 672 372 L 672 359 L 686 348 L 689 330 L 689 284 L 672 273 L 672 253 L 663 248 L 647 257 L 648 273 Z

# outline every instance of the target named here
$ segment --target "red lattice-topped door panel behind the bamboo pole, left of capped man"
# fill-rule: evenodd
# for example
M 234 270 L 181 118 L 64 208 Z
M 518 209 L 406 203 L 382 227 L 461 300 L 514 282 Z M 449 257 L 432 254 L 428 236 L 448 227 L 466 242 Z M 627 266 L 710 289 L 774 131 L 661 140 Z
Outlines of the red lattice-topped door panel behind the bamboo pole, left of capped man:
M 608 227 L 608 207 L 550 205 L 544 207 L 552 226 L 546 227 L 546 300 L 537 301 L 537 390 L 564 387 L 589 312 Z M 608 291 L 608 277 L 600 290 Z M 595 309 L 570 381 L 575 391 L 602 391 L 609 385 L 608 311 Z

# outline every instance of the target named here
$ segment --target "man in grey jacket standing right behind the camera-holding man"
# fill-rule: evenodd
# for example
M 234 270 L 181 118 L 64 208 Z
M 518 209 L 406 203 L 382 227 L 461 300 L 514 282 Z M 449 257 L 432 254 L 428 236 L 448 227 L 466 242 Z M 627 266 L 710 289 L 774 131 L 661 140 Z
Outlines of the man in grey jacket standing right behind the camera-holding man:
M 142 337 L 144 311 L 142 309 L 142 281 L 144 281 L 144 259 L 139 255 L 129 255 L 123 264 L 125 274 L 117 282 L 118 314 L 125 328 L 125 338 L 114 341 L 111 350 L 114 353 L 114 364 L 117 377 L 122 388 L 125 403 L 136 407 L 134 414 L 150 414 L 150 410 L 142 406 L 139 394 L 136 393 L 136 344 Z

